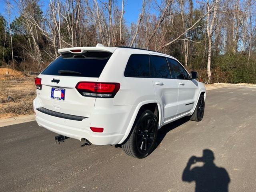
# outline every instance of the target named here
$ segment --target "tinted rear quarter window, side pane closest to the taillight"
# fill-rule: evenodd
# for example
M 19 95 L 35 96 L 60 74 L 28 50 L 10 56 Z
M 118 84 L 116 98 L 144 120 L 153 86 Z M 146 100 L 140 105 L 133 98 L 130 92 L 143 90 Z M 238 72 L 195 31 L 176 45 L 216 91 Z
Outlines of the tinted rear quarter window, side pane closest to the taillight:
M 124 76 L 126 77 L 149 77 L 149 55 L 132 54 L 126 64 Z

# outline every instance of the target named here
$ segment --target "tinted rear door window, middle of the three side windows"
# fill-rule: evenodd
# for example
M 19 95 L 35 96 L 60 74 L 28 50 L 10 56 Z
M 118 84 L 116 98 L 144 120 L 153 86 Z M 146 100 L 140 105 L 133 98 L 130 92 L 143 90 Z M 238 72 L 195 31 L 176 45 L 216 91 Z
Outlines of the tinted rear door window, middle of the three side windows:
M 150 76 L 152 78 L 171 78 L 165 57 L 150 55 Z

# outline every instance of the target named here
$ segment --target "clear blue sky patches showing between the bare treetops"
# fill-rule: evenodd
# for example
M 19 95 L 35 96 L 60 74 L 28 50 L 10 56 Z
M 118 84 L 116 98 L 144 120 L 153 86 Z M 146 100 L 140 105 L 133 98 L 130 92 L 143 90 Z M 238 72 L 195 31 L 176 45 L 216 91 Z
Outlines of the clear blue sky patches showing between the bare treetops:
M 40 0 L 40 4 L 42 5 L 42 10 L 46 10 L 48 8 L 48 2 L 50 0 Z M 160 0 L 159 0 L 160 1 Z M 10 0 L 13 3 L 13 0 Z M 6 0 L 0 0 L 0 14 L 6 16 L 5 12 L 5 3 Z M 122 0 L 118 0 L 118 4 L 121 7 Z M 142 0 L 125 0 L 124 1 L 124 18 L 128 24 L 132 22 L 137 22 L 138 15 L 140 14 L 142 7 Z M 16 14 L 12 14 L 11 19 L 13 20 L 17 16 Z

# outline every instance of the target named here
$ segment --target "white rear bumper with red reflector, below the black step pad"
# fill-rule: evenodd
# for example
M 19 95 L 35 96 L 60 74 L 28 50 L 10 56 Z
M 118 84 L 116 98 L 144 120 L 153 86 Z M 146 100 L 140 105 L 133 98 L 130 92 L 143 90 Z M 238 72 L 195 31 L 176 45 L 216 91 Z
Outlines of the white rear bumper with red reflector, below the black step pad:
M 52 132 L 70 138 L 88 139 L 95 145 L 118 144 L 124 137 L 124 126 L 132 106 L 113 106 L 109 108 L 95 107 L 90 117 L 82 121 L 51 116 L 36 110 L 40 108 L 38 99 L 33 101 L 36 122 Z M 92 132 L 91 127 L 104 128 L 102 133 Z

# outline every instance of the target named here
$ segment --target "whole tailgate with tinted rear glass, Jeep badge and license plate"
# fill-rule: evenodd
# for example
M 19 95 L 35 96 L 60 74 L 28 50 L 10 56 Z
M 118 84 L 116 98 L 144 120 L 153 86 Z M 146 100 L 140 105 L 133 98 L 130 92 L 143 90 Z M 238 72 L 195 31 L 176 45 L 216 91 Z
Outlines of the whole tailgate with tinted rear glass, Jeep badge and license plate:
M 95 97 L 82 96 L 78 82 L 97 82 L 112 53 L 66 53 L 54 60 L 39 76 L 42 89 L 37 90 L 40 106 L 48 110 L 89 117 Z M 61 95 L 61 97 L 60 97 Z

